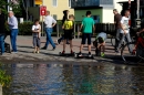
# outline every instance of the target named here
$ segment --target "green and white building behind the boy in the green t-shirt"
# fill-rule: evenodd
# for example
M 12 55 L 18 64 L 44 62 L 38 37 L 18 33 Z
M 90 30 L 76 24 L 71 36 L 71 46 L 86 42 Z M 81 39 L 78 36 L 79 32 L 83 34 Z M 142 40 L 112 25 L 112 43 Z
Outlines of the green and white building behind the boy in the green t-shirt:
M 128 0 L 72 0 L 75 21 L 81 21 L 86 10 L 92 11 L 92 18 L 95 23 L 113 23 L 113 9 L 122 10 L 122 6 L 117 2 Z

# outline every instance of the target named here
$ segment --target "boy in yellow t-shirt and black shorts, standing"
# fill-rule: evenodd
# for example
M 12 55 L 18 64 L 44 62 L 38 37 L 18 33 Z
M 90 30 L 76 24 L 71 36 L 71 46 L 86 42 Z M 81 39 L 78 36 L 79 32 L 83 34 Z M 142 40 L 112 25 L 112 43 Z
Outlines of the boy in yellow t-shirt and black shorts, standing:
M 69 39 L 70 41 L 70 50 L 71 50 L 71 54 L 73 54 L 72 51 L 72 33 L 73 33 L 73 20 L 74 20 L 74 15 L 70 14 L 69 15 L 69 20 L 65 20 L 63 23 L 62 29 L 64 30 L 64 41 L 63 41 L 63 51 L 62 54 L 65 53 L 65 44 L 66 44 L 66 40 Z

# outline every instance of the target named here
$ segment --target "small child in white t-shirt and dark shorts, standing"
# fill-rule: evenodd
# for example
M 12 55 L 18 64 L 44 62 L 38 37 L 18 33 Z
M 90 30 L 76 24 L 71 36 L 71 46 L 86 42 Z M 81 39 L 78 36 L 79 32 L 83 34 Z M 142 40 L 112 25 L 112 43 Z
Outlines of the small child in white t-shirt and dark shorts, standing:
M 33 53 L 39 53 L 40 52 L 40 36 L 41 36 L 41 25 L 39 23 L 39 20 L 34 20 L 34 24 L 32 25 L 32 35 L 33 35 L 33 46 L 34 51 Z

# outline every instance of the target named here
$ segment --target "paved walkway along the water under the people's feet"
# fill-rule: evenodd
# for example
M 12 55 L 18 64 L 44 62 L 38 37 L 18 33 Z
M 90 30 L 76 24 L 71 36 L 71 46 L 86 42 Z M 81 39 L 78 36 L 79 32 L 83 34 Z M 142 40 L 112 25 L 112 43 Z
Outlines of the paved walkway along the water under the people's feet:
M 53 41 L 55 42 L 58 38 L 53 36 Z M 93 39 L 94 41 L 94 39 Z M 7 36 L 6 42 L 10 43 L 10 36 Z M 62 43 L 56 45 L 55 51 L 51 51 L 52 46 L 51 44 L 49 45 L 48 50 L 40 50 L 39 54 L 33 54 L 33 48 L 32 48 L 32 36 L 18 36 L 18 53 L 17 54 L 11 54 L 11 53 L 4 53 L 0 60 L 8 62 L 28 62 L 28 61 L 71 61 L 71 62 L 100 62 L 100 61 L 110 61 L 110 62 L 115 62 L 115 59 L 119 57 L 120 55 L 114 53 L 114 49 L 110 43 L 110 40 L 107 39 L 106 41 L 106 52 L 105 52 L 105 57 L 99 57 L 94 56 L 94 60 L 88 60 L 88 59 L 74 59 L 72 56 L 66 57 L 66 56 L 59 56 L 59 52 L 62 51 Z M 45 43 L 45 36 L 41 38 L 41 46 L 43 46 Z M 81 39 L 74 39 L 73 40 L 73 51 L 79 52 Z M 95 49 L 92 48 L 92 54 L 95 54 Z M 66 52 L 70 52 L 69 45 L 66 45 Z M 83 53 L 88 53 L 88 48 L 83 49 Z

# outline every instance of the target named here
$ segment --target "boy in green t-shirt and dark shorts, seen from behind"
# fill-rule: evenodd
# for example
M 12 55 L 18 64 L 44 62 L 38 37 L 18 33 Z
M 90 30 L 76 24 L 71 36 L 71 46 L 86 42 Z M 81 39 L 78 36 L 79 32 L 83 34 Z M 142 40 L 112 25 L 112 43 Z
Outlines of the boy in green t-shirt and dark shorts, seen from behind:
M 94 20 L 91 18 L 91 11 L 86 11 L 86 17 L 82 20 L 80 31 L 81 30 L 82 30 L 82 42 L 79 55 L 82 55 L 82 49 L 86 42 L 86 39 L 88 39 L 89 55 L 91 55 L 91 36 L 94 30 Z

